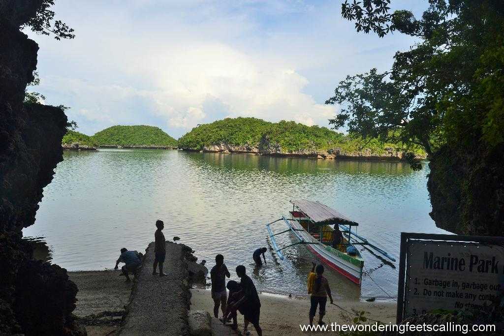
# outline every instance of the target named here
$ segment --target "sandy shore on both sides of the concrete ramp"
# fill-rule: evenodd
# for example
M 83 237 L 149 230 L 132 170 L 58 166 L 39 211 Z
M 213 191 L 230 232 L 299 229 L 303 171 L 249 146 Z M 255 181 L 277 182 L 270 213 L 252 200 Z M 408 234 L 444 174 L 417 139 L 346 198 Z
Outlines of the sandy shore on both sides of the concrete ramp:
M 121 324 L 124 308 L 130 301 L 133 284 L 124 283 L 119 271 L 73 271 L 68 272 L 70 280 L 79 288 L 77 308 L 74 314 L 85 326 L 89 336 L 114 334 Z M 282 294 L 260 292 L 261 327 L 265 334 L 301 335 L 299 324 L 308 323 L 309 297 L 288 297 Z M 191 288 L 191 310 L 205 310 L 213 315 L 213 300 L 210 289 Z M 326 323 L 352 324 L 352 310 L 364 311 L 364 316 L 384 323 L 395 322 L 396 302 L 376 300 L 335 300 L 337 306 L 327 304 Z M 219 316 L 222 312 L 219 311 Z M 373 322 L 371 322 L 373 323 Z M 243 316 L 238 314 L 238 326 L 243 326 Z M 256 335 L 254 328 L 249 328 Z

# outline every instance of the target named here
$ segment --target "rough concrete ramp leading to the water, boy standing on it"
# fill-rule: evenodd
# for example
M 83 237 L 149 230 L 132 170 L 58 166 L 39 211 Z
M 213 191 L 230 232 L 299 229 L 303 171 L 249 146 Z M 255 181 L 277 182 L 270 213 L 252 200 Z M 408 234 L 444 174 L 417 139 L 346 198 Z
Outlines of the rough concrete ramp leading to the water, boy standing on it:
M 164 273 L 152 275 L 154 242 L 146 249 L 138 282 L 134 285 L 121 335 L 186 335 L 189 333 L 187 310 L 191 292 L 187 263 L 181 244 L 166 242 Z

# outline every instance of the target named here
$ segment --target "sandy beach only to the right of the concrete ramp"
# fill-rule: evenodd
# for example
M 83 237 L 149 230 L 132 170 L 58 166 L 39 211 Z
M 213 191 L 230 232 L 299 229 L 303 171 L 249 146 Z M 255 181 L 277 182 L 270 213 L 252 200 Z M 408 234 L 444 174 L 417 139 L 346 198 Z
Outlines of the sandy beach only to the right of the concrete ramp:
M 191 290 L 191 310 L 206 310 L 213 314 L 213 301 L 210 290 L 194 288 Z M 260 324 L 265 335 L 301 335 L 300 323 L 308 323 L 309 298 L 289 298 L 287 296 L 260 293 L 261 320 Z M 389 301 L 335 301 L 337 305 L 351 312 L 366 311 L 366 317 L 382 321 L 384 323 L 395 322 L 396 303 Z M 324 317 L 326 323 L 337 322 L 340 324 L 351 323 L 351 318 L 346 318 L 347 313 L 328 303 L 327 314 Z M 219 312 L 219 316 L 222 312 Z M 317 317 L 316 317 L 317 318 Z M 353 318 L 353 316 L 352 316 Z M 373 322 L 371 322 L 373 323 Z M 240 329 L 243 326 L 243 316 L 238 314 Z M 251 335 L 256 335 L 254 327 L 249 327 Z

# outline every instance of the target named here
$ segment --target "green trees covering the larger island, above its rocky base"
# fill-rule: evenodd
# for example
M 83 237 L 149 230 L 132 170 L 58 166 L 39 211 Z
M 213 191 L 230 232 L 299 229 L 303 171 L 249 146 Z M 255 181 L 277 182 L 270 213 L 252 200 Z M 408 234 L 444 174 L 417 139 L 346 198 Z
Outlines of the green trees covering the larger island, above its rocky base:
M 306 126 L 295 121 L 268 122 L 257 118 L 225 118 L 199 125 L 178 140 L 182 149 L 202 150 L 218 144 L 259 147 L 261 142 L 278 145 L 285 152 L 304 150 L 328 151 L 338 149 L 342 153 L 358 153 L 367 150 L 372 155 L 385 155 L 388 149 L 403 151 L 401 143 L 385 143 L 378 139 L 362 139 L 344 135 L 327 127 Z M 418 146 L 415 154 L 425 155 Z

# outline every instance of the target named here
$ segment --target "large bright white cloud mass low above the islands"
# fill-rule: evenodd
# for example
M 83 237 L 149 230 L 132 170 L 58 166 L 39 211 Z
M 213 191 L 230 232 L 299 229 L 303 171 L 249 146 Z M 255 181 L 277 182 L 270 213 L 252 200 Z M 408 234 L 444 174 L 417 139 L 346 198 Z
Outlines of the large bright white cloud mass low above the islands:
M 69 116 L 99 127 L 140 123 L 140 117 L 150 114 L 183 134 L 208 116 L 204 105 L 209 98 L 226 106 L 224 117 L 255 116 L 312 125 L 334 115 L 333 106 L 318 104 L 302 92 L 308 84 L 305 77 L 281 63 L 257 59 L 220 43 L 183 48 L 149 45 L 142 47 L 142 61 L 129 60 L 137 66 L 128 72 L 133 78 L 147 78 L 151 89 L 57 76 L 48 76 L 44 88 L 65 88 L 72 98 L 67 104 L 81 107 L 70 110 Z M 139 101 L 144 102 L 142 108 L 127 106 Z

